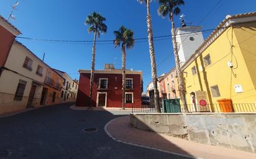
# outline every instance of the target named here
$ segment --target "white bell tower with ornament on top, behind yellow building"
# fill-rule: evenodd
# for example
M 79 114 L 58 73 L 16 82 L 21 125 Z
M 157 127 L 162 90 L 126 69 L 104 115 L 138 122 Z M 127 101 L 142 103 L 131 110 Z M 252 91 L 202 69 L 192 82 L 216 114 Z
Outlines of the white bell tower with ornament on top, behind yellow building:
M 181 15 L 181 27 L 176 28 L 176 41 L 178 43 L 178 54 L 181 66 L 204 42 L 201 27 L 186 26 L 185 15 Z

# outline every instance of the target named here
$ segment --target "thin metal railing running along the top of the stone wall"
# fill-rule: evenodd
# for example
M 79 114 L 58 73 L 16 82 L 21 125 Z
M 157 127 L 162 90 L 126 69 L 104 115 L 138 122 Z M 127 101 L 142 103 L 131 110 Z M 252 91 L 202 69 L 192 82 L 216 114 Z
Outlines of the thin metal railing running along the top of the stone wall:
M 256 113 L 255 103 L 161 105 L 162 113 Z M 156 113 L 155 105 L 132 106 L 132 113 Z

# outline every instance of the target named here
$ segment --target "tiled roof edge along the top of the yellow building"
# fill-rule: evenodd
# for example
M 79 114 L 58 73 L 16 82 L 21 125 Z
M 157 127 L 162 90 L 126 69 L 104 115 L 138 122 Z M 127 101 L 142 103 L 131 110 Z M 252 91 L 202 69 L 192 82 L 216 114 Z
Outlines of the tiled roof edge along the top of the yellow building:
M 211 42 L 209 42 L 212 38 L 214 38 L 214 35 L 216 35 L 217 32 L 223 32 L 224 30 L 227 29 L 227 27 L 229 26 L 225 26 L 226 23 L 229 20 L 232 19 L 239 19 L 239 18 L 246 18 L 246 17 L 254 17 L 256 16 L 256 12 L 249 12 L 249 13 L 245 13 L 245 14 L 235 14 L 235 15 L 227 15 L 226 19 L 222 20 L 222 22 L 216 27 L 216 29 L 208 36 L 208 38 L 206 38 L 206 40 L 204 40 L 203 44 L 201 46 L 199 46 L 198 49 L 196 49 L 196 51 L 194 52 L 194 54 L 192 54 L 190 56 L 190 58 L 185 62 L 185 64 L 183 64 L 184 69 L 186 68 L 186 66 L 188 66 L 188 64 L 190 64 L 192 61 L 191 59 L 194 58 L 194 56 L 196 56 L 196 54 L 201 54 L 203 53 L 204 49 L 206 49 L 209 45 L 211 45 L 211 43 L 213 43 L 214 40 L 212 40 Z M 218 37 L 218 36 L 217 36 Z M 217 38 L 215 37 L 215 39 Z M 204 48 L 205 47 L 205 48 Z M 204 48 L 204 49 L 203 49 Z

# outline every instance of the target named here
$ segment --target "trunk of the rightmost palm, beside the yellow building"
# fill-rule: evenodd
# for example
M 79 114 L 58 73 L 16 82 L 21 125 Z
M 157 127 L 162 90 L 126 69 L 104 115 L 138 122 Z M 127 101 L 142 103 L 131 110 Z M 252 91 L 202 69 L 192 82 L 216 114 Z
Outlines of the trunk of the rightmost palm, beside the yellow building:
M 175 25 L 173 22 L 173 11 L 170 11 L 170 20 L 171 20 L 171 35 L 172 35 L 172 42 L 173 42 L 173 49 L 174 49 L 174 56 L 175 56 L 176 72 L 178 74 L 180 98 L 181 98 L 183 106 L 185 108 L 185 112 L 188 112 L 188 106 L 186 105 L 183 71 L 181 71 L 181 67 L 180 67 L 180 58 L 178 55 L 178 46 L 177 46 L 177 41 L 176 41 Z

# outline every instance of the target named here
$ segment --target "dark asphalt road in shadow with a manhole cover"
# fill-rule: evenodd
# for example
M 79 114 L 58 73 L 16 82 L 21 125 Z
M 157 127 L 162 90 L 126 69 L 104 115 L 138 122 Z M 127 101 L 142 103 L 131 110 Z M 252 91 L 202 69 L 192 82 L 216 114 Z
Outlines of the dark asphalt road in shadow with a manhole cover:
M 184 158 L 116 142 L 107 136 L 104 126 L 120 115 L 74 111 L 70 106 L 50 106 L 0 118 L 0 158 Z M 85 133 L 82 130 L 86 127 L 98 127 L 99 131 Z

